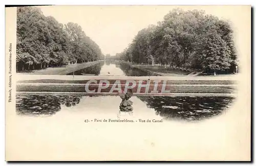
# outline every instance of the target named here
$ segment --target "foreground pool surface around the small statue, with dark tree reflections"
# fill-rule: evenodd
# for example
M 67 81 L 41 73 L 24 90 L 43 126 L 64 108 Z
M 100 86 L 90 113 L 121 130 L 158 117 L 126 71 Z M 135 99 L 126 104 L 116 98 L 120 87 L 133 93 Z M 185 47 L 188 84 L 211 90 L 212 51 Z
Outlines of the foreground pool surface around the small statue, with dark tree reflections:
M 113 107 L 105 112 L 103 108 L 96 109 L 104 116 L 115 114 L 123 119 L 133 116 L 132 113 L 124 115 L 119 112 L 119 96 L 80 96 L 80 95 L 16 95 L 16 112 L 18 115 L 51 116 L 62 108 L 70 107 L 69 110 L 89 110 L 92 107 L 110 105 Z M 133 113 L 137 115 L 142 112 L 141 105 L 146 104 L 145 114 L 155 115 L 165 120 L 183 119 L 198 121 L 219 115 L 225 108 L 230 107 L 233 97 L 166 97 L 166 96 L 134 96 L 131 100 L 135 102 Z M 81 101 L 81 102 L 80 102 Z M 85 113 L 86 114 L 86 113 Z M 95 113 L 97 114 L 97 113 Z M 146 118 L 146 117 L 145 117 Z

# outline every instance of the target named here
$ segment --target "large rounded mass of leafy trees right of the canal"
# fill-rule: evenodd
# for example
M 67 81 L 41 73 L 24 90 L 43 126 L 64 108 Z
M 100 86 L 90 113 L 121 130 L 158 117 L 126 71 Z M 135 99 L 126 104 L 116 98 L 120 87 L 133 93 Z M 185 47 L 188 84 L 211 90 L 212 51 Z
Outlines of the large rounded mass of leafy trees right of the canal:
M 228 21 L 204 11 L 174 9 L 157 25 L 142 29 L 116 57 L 121 60 L 207 71 L 233 71 L 237 65 Z

